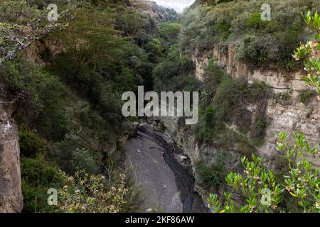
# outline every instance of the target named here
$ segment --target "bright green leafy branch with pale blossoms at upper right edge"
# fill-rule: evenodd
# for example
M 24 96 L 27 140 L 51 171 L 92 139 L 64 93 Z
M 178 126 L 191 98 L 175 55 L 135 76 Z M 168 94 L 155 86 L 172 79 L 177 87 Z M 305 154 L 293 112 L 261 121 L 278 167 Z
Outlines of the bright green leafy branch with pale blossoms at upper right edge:
M 306 14 L 302 13 L 304 22 L 314 31 L 314 40 L 309 41 L 306 45 L 301 45 L 294 51 L 294 59 L 304 59 L 304 70 L 306 71 L 306 77 L 304 80 L 318 89 L 320 94 L 320 61 L 316 56 L 316 50 L 320 50 L 320 16 L 316 12 L 314 15 L 309 11 Z

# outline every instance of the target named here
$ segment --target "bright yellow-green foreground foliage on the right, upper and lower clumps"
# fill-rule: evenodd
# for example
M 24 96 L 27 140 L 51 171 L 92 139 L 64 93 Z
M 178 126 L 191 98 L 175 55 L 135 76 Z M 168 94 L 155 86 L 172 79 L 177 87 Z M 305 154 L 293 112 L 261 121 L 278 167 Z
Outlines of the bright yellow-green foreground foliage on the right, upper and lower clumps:
M 295 60 L 304 58 L 304 70 L 307 75 L 303 79 L 319 91 L 319 59 L 315 53 L 320 49 L 320 17 L 318 13 L 312 14 L 309 11 L 306 14 L 302 13 L 302 18 L 314 30 L 315 37 L 306 45 L 297 48 L 292 57 Z M 299 94 L 299 101 L 306 105 L 314 95 L 316 92 L 313 89 L 306 90 Z M 210 109 L 209 115 L 212 116 L 212 113 L 213 109 Z M 218 194 L 210 194 L 208 204 L 212 211 L 319 213 L 319 169 L 309 161 L 310 158 L 319 160 L 319 147 L 312 147 L 303 133 L 295 132 L 292 136 L 288 133 L 279 133 L 277 150 L 280 153 L 277 158 L 287 161 L 287 165 L 281 167 L 279 172 L 267 170 L 262 158 L 254 154 L 252 154 L 252 160 L 249 160 L 248 156 L 242 157 L 241 161 L 245 169 L 243 174 L 230 172 L 225 177 L 228 190 L 223 192 L 220 199 Z M 216 176 L 220 170 L 212 169 L 212 171 L 214 174 L 206 173 L 205 179 L 214 176 L 213 179 L 209 178 L 210 182 L 218 182 Z

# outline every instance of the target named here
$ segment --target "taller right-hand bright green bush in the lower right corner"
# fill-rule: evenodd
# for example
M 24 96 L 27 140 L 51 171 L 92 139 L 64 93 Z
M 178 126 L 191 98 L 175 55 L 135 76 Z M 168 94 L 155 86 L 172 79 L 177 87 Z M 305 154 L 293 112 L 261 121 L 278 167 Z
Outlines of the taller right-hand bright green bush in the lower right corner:
M 320 212 L 319 169 L 309 162 L 309 155 L 319 159 L 319 148 L 312 148 L 303 133 L 294 133 L 290 143 L 288 133 L 279 133 L 277 150 L 287 157 L 289 174 L 284 175 L 283 187 L 294 197 L 304 212 Z M 320 144 L 319 144 L 320 145 Z

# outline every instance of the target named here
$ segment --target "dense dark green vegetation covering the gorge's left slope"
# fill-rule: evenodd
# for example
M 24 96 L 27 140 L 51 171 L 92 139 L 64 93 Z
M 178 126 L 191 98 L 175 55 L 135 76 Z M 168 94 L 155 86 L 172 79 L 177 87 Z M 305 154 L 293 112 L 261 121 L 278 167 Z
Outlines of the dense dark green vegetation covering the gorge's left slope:
M 95 211 L 137 211 L 139 190 L 129 177 L 124 180 L 120 163 L 114 164 L 121 160 L 110 157 L 114 149 L 121 150 L 119 140 L 131 130 L 121 114 L 121 94 L 142 84 L 153 88 L 150 72 L 180 27 L 169 22 L 160 25 L 156 13 L 130 1 L 61 0 L 57 4 L 58 13 L 65 13 L 56 23 L 46 20 L 47 1 L 6 0 L 0 7 L 1 32 L 21 35 L 18 29 L 23 28 L 28 35 L 31 29 L 40 38 L 34 46 L 28 43 L 28 51 L 40 55 L 40 60 L 21 55 L 9 39 L 0 43 L 15 53 L 6 59 L 6 49 L 1 48 L 1 81 L 18 105 L 23 211 L 94 211 L 93 200 L 101 196 L 105 200 L 99 201 L 101 206 L 95 204 L 101 207 Z M 159 9 L 169 18 L 176 17 L 174 11 Z M 40 33 L 40 27 L 46 33 Z M 73 175 L 75 182 L 68 177 Z M 60 193 L 65 201 L 58 208 L 48 206 L 50 187 L 75 187 L 83 180 L 103 182 L 101 193 L 106 194 L 64 190 Z M 114 187 L 125 192 L 110 191 Z M 107 196 L 110 193 L 122 198 L 119 206 L 113 204 L 115 197 Z M 74 196 L 85 209 L 68 199 Z

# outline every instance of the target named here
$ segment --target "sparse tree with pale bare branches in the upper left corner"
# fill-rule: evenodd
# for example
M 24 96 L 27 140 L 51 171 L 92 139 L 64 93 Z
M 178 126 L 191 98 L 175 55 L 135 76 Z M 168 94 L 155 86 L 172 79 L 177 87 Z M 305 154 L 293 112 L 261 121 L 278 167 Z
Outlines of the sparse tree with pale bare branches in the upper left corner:
M 60 19 L 67 11 L 60 13 Z M 46 21 L 48 11 L 39 10 L 26 0 L 4 0 L 0 5 L 0 65 L 11 60 L 34 40 L 38 40 L 68 23 Z M 60 20 L 62 21 L 62 20 Z

